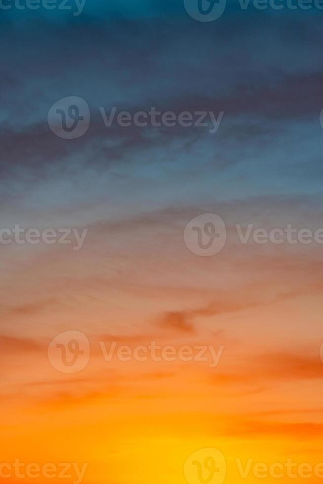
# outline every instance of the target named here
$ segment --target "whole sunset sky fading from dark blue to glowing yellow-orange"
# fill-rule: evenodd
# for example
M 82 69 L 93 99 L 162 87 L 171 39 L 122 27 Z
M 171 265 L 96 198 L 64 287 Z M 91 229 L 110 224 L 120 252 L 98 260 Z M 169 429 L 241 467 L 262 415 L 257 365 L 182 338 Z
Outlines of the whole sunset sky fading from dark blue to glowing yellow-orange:
M 237 484 L 235 458 L 323 461 L 322 245 L 235 235 L 323 227 L 323 11 L 237 3 L 210 23 L 179 0 L 0 10 L 1 227 L 88 228 L 80 251 L 0 245 L 1 462 L 86 462 L 85 484 L 184 484 L 187 457 L 216 447 Z M 47 123 L 66 96 L 91 111 L 76 140 Z M 216 134 L 106 128 L 99 107 L 113 106 L 225 114 Z M 227 225 L 213 257 L 183 241 L 202 213 Z M 70 329 L 92 350 L 76 375 L 47 359 Z M 113 340 L 225 349 L 216 368 L 106 363 L 98 342 Z

